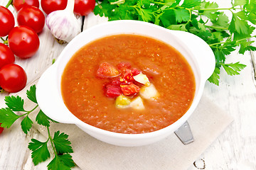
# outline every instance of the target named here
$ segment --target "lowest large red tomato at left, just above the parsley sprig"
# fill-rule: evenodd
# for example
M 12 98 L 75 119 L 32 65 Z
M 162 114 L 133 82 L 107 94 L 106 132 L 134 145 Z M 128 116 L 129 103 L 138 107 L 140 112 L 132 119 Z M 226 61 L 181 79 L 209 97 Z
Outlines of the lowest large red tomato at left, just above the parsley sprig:
M 17 64 L 7 64 L 0 69 L 0 86 L 9 93 L 21 91 L 26 81 L 26 72 Z

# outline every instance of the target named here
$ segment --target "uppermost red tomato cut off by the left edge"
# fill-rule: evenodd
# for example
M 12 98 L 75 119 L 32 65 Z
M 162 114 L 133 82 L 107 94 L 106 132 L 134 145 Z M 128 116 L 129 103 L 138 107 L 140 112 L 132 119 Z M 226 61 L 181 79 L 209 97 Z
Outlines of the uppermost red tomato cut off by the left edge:
M 14 15 L 8 8 L 0 6 L 0 37 L 4 37 L 9 34 L 12 28 L 14 28 Z

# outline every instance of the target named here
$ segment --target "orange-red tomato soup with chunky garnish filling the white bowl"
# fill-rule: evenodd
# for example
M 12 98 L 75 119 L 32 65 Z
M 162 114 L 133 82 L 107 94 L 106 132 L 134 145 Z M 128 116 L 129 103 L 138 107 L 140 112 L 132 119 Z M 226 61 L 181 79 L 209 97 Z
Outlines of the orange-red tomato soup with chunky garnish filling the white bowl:
M 63 101 L 83 122 L 119 133 L 171 125 L 188 111 L 195 77 L 180 52 L 141 35 L 111 35 L 73 55 L 62 79 Z

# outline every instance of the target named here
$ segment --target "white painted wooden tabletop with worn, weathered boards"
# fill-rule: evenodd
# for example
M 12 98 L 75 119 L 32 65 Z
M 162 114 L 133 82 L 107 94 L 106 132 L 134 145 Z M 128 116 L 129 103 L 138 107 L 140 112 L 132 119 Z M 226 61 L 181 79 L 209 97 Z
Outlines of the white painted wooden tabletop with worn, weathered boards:
M 220 7 L 230 4 L 229 1 L 215 1 Z M 6 1 L 0 1 L 0 4 L 6 4 Z M 85 18 L 85 28 L 104 21 L 105 18 L 90 14 Z M 40 40 L 40 49 L 36 55 L 28 60 L 19 60 L 16 57 L 16 63 L 28 74 L 28 82 L 48 68 L 65 47 L 55 41 L 46 27 L 40 34 Z M 188 170 L 256 169 L 256 84 L 253 54 L 256 57 L 255 52 L 246 52 L 245 55 L 238 55 L 238 51 L 233 52 L 228 57 L 228 62 L 240 61 L 247 65 L 241 74 L 230 77 L 222 70 L 220 86 L 206 83 L 204 92 L 208 98 L 232 115 L 235 121 Z M 4 107 L 4 95 L 6 94 L 0 96 L 0 108 Z M 47 162 L 33 166 L 31 152 L 27 148 L 32 137 L 40 140 L 43 137 L 36 130 L 24 135 L 19 124 L 19 121 L 14 123 L 0 135 L 0 169 L 46 169 Z

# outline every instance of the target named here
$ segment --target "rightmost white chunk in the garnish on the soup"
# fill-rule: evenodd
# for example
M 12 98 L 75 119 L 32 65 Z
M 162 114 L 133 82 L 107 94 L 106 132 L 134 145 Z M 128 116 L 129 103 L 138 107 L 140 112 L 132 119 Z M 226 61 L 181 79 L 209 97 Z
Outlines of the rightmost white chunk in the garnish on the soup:
M 140 89 L 139 94 L 142 96 L 142 98 L 148 100 L 154 100 L 155 98 L 159 97 L 159 92 L 156 90 L 156 87 L 153 84 L 150 84 L 149 86 L 143 86 Z

